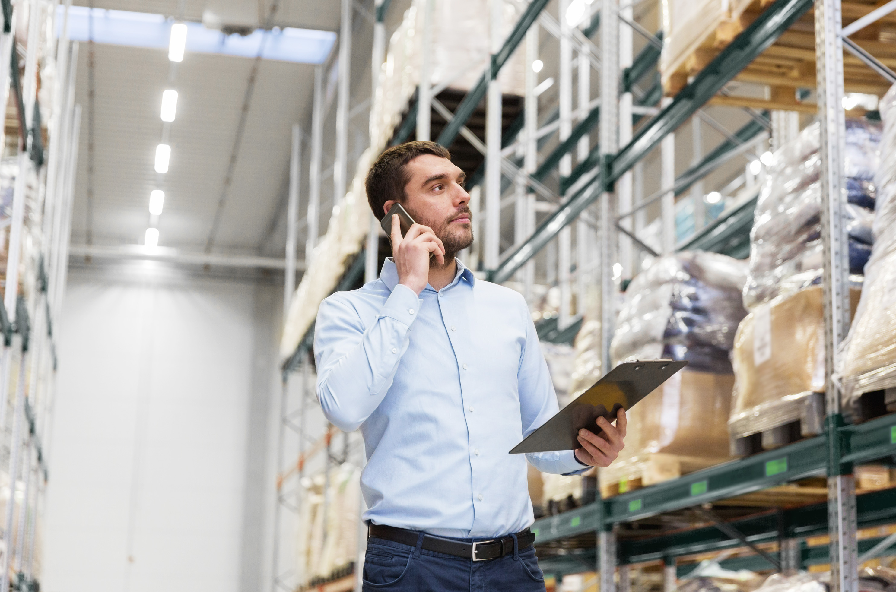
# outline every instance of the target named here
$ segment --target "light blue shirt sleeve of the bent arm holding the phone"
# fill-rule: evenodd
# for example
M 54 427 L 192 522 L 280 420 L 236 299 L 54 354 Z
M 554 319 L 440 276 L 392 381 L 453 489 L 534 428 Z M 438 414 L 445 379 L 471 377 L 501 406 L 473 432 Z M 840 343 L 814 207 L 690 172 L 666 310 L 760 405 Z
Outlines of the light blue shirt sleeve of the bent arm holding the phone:
M 413 290 L 399 284 L 365 327 L 340 293 L 321 303 L 314 325 L 317 398 L 323 415 L 340 430 L 357 430 L 383 401 L 422 305 Z

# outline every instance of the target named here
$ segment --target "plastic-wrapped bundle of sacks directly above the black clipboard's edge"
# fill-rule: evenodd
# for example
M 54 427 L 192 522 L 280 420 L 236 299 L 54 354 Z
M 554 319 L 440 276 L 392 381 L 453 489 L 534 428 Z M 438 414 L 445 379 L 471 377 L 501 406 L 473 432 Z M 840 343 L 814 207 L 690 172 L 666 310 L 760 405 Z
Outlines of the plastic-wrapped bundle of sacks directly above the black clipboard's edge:
M 613 363 L 671 357 L 690 362 L 690 370 L 730 373 L 728 351 L 746 314 L 745 275 L 743 262 L 716 253 L 659 259 L 625 292 L 610 346 Z

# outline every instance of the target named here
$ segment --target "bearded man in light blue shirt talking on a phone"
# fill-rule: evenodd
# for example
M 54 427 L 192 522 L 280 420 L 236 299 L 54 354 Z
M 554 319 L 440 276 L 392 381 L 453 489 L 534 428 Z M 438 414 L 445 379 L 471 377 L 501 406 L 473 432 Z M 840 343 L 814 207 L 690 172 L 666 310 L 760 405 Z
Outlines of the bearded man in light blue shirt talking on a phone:
M 341 430 L 361 428 L 369 538 L 364 589 L 544 590 L 529 530 L 526 459 L 508 451 L 557 412 L 525 300 L 454 258 L 473 240 L 464 173 L 435 142 L 385 150 L 366 178 L 377 218 L 395 202 L 418 223 L 380 279 L 323 301 L 317 395 Z M 625 412 L 578 450 L 527 454 L 548 473 L 607 467 Z

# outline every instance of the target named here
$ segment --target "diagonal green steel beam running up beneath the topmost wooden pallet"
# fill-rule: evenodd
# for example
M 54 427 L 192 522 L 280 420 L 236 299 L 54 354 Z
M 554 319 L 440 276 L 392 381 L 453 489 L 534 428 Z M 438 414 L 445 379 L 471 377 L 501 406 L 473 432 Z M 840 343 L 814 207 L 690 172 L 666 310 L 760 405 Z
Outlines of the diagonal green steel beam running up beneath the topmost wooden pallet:
M 755 21 L 719 52 L 705 68 L 682 89 L 676 98 L 650 124 L 638 131 L 625 148 L 608 163 L 604 184 L 615 183 L 639 160 L 688 117 L 709 101 L 756 56 L 771 47 L 790 25 L 812 6 L 812 0 L 776 0 Z

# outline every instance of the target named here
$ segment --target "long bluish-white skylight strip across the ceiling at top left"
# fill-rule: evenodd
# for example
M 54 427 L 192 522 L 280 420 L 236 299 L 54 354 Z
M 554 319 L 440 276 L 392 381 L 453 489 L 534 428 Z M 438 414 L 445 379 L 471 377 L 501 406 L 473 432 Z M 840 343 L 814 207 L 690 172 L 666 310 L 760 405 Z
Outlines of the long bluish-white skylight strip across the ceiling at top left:
M 59 37 L 64 22 L 65 6 L 60 5 L 56 15 L 58 16 L 56 37 Z M 183 51 L 254 58 L 258 56 L 258 50 L 263 48 L 264 59 L 297 64 L 323 64 L 336 42 L 336 33 L 329 30 L 287 27 L 268 31 L 267 40 L 262 45 L 265 36 L 263 30 L 254 30 L 246 37 L 237 33 L 225 35 L 220 30 L 206 29 L 199 22 L 172 24 L 172 21 L 161 14 L 102 8 L 94 8 L 91 13 L 91 9 L 86 6 L 71 6 L 68 9 L 70 39 L 85 42 L 90 40 L 91 15 L 94 42 L 126 47 L 170 50 L 175 37 L 175 28 L 183 26 L 185 27 Z

